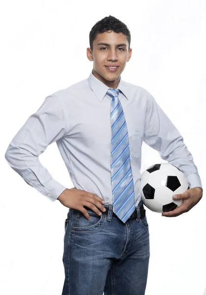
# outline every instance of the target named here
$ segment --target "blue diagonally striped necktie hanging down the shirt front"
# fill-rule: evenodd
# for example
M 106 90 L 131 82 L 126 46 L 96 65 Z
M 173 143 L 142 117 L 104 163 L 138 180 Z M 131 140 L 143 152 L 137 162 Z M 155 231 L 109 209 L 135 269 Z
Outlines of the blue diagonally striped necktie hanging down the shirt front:
M 135 210 L 134 185 L 129 157 L 129 137 L 119 89 L 106 92 L 111 100 L 111 182 L 113 212 L 125 223 Z

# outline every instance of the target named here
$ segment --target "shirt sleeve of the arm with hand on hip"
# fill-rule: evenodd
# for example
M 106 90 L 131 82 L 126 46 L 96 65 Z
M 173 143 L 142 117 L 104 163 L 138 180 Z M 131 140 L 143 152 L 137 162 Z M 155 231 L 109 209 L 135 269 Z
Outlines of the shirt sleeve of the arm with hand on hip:
M 5 152 L 5 159 L 27 184 L 54 202 L 66 189 L 52 178 L 39 155 L 68 131 L 68 115 L 62 98 L 52 94 L 17 132 Z

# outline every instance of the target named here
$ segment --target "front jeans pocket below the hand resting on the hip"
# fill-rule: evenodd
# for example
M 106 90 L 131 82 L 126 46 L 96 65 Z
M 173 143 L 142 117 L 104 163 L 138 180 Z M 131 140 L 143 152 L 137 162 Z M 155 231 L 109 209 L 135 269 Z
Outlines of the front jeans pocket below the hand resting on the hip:
M 88 220 L 82 212 L 74 214 L 71 224 L 71 231 L 91 232 L 100 229 L 105 221 L 105 215 L 102 214 L 99 216 L 92 212 L 93 211 L 88 210 L 91 218 L 90 220 Z

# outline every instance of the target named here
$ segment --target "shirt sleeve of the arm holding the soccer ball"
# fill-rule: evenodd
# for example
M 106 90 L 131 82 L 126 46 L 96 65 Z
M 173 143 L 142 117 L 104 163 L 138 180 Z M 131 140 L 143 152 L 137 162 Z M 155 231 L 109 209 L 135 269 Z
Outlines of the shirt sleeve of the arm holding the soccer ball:
M 183 137 L 149 92 L 143 141 L 157 150 L 163 160 L 184 173 L 189 188 L 199 186 L 203 189 L 197 166 Z

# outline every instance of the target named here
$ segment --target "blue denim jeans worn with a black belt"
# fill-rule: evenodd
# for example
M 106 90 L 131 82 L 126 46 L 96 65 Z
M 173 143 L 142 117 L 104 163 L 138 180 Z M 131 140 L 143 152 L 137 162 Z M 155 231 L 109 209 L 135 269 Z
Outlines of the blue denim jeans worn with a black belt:
M 145 295 L 150 258 L 147 217 L 124 224 L 108 215 L 69 209 L 65 220 L 62 295 Z

